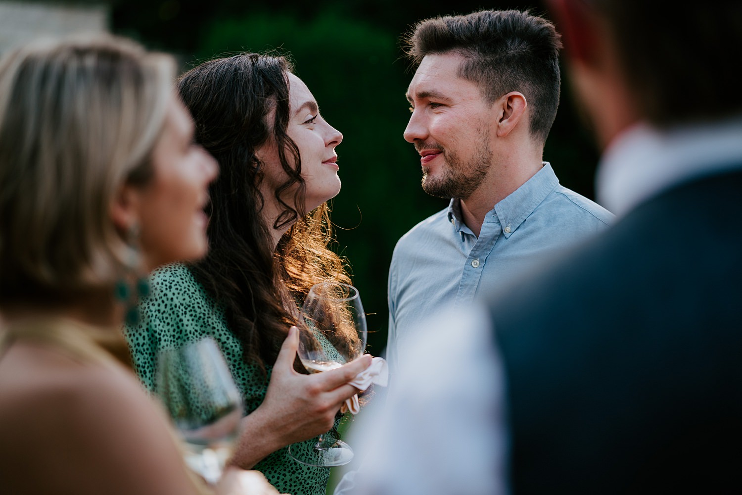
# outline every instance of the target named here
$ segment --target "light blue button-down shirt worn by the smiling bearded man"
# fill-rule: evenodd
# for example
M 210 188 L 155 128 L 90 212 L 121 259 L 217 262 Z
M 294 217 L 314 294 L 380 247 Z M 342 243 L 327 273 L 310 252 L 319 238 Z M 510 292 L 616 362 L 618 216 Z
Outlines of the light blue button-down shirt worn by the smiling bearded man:
M 398 241 L 389 272 L 387 361 L 392 373 L 405 331 L 444 306 L 502 289 L 568 246 L 603 230 L 613 215 L 559 186 L 549 163 L 487 213 L 479 237 L 459 200 Z M 456 329 L 451 329 L 451 338 Z

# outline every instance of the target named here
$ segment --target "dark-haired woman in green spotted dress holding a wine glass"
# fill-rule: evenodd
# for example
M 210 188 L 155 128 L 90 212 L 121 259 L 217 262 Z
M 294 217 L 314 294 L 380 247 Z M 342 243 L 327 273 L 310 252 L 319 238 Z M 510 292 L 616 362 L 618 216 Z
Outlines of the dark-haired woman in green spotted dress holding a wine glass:
M 280 56 L 206 62 L 178 90 L 197 142 L 220 164 L 209 187 L 209 255 L 154 272 L 142 318 L 126 330 L 137 373 L 151 388 L 160 350 L 214 336 L 246 404 L 232 463 L 262 471 L 281 492 L 324 495 L 329 468 L 296 462 L 287 446 L 313 445 L 332 429 L 358 391 L 348 382 L 370 357 L 308 375 L 289 328 L 314 283 L 349 282 L 327 248 L 326 201 L 340 191 L 335 147 L 343 136 Z

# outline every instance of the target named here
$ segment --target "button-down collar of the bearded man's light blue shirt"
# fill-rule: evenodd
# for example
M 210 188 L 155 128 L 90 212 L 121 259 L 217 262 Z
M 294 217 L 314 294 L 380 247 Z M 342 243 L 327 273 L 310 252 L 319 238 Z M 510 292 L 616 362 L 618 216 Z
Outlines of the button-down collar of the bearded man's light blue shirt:
M 536 206 L 542 203 L 551 191 L 559 186 L 559 179 L 554 174 L 551 164 L 544 162 L 536 174 L 528 179 L 522 186 L 500 200 L 494 208 L 485 216 L 485 222 L 493 218 L 499 220 L 502 233 L 510 237 L 518 229 L 521 223 L 533 213 Z M 462 222 L 460 200 L 453 199 L 448 204 L 448 221 L 453 224 L 456 232 L 466 228 Z M 466 228 L 468 231 L 468 228 Z

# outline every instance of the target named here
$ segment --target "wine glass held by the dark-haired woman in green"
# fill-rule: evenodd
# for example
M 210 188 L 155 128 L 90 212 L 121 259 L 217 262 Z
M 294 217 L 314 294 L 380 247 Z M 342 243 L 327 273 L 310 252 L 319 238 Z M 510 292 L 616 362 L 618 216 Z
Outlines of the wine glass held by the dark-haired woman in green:
M 298 321 L 301 363 L 309 373 L 334 370 L 363 355 L 366 349 L 366 313 L 358 289 L 347 283 L 325 281 L 309 289 Z M 312 466 L 341 466 L 353 458 L 345 442 L 320 435 L 315 445 L 289 446 L 298 462 Z

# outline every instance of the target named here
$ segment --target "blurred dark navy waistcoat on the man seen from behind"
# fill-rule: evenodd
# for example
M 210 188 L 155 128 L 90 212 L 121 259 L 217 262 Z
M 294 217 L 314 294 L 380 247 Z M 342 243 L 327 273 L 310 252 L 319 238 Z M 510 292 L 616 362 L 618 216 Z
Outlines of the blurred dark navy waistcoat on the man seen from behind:
M 742 172 L 493 301 L 513 494 L 742 493 Z

